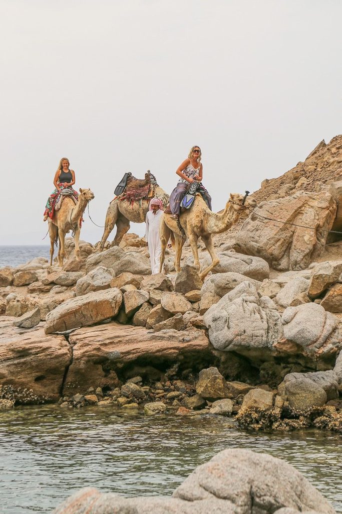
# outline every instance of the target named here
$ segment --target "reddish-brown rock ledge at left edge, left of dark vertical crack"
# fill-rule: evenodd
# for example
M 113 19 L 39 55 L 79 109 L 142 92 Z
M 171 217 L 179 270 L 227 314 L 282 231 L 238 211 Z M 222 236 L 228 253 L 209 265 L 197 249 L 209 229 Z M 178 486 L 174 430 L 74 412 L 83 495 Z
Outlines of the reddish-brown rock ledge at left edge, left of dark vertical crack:
M 72 352 L 64 336 L 36 327 L 23 337 L 13 318 L 0 318 L 0 398 L 16 403 L 57 401 Z

